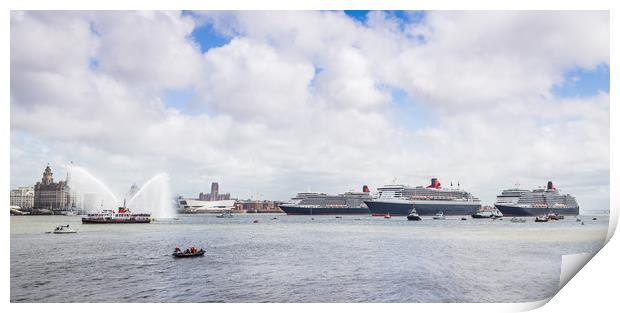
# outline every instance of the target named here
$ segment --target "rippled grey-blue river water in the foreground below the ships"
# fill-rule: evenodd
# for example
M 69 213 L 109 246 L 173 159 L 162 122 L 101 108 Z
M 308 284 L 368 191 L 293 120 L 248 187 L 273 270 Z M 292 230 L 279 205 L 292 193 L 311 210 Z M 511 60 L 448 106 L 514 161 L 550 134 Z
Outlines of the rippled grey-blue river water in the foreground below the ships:
M 314 219 L 313 219 L 314 218 Z M 529 302 L 607 217 L 548 223 L 182 215 L 145 225 L 11 217 L 11 302 Z M 253 223 L 258 220 L 258 223 Z M 77 234 L 46 234 L 70 224 Z M 175 259 L 176 246 L 204 257 Z

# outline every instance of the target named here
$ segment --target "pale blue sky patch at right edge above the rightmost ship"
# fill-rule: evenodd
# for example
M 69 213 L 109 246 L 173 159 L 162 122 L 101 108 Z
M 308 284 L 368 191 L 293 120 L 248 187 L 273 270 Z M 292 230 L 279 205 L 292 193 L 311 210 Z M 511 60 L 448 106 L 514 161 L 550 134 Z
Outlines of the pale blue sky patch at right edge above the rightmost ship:
M 599 64 L 593 70 L 570 69 L 564 73 L 564 82 L 553 86 L 551 92 L 561 98 L 591 97 L 599 92 L 609 93 L 609 65 Z

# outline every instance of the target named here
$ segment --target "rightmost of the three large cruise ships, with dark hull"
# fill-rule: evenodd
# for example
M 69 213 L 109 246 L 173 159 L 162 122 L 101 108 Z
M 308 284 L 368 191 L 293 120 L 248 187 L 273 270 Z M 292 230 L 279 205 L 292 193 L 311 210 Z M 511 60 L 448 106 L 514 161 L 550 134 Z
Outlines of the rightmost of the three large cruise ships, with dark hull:
M 497 196 L 495 207 L 508 216 L 537 216 L 547 213 L 579 215 L 579 204 L 575 197 L 561 194 L 551 181 L 547 182 L 547 188 L 506 189 Z

